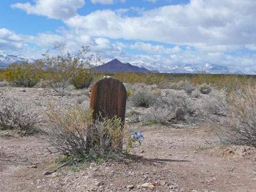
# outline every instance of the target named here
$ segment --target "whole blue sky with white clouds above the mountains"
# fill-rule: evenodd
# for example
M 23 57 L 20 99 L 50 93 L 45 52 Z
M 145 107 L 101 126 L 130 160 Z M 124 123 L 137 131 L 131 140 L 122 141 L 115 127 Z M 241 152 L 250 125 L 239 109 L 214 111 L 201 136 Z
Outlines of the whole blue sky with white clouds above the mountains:
M 254 0 L 8 0 L 0 52 L 40 58 L 55 41 L 102 58 L 256 71 Z

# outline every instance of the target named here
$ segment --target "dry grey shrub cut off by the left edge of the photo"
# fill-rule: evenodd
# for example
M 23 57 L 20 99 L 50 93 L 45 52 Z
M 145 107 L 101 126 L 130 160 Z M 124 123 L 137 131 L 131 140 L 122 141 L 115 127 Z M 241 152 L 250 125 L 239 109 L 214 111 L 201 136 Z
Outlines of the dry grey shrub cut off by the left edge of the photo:
M 0 127 L 6 130 L 15 130 L 20 134 L 36 131 L 38 114 L 28 111 L 26 104 L 20 104 L 12 98 L 0 101 Z

